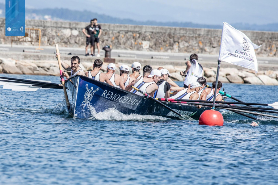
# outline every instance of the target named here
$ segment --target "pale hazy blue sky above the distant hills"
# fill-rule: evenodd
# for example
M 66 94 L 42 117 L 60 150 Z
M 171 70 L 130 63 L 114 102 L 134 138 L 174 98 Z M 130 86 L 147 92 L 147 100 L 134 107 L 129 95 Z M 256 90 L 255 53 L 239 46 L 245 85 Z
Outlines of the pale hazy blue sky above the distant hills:
M 0 0 L 4 3 L 5 0 Z M 28 8 L 63 7 L 134 20 L 203 24 L 277 23 L 277 0 L 26 0 Z

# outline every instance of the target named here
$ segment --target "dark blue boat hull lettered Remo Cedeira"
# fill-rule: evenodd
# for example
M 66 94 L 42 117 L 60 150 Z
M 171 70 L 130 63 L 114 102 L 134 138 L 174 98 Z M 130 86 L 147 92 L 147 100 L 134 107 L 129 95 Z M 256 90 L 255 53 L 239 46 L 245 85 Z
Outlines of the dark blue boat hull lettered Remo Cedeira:
M 113 87 L 85 76 L 74 76 L 66 80 L 71 91 L 71 111 L 76 118 L 89 118 L 92 112 L 103 112 L 115 108 L 123 114 L 139 114 L 163 116 L 178 119 L 178 115 L 157 102 L 135 95 L 128 91 Z M 194 105 L 162 102 L 182 115 L 198 120 L 201 113 L 208 107 L 197 108 Z M 94 109 L 92 111 L 92 109 Z

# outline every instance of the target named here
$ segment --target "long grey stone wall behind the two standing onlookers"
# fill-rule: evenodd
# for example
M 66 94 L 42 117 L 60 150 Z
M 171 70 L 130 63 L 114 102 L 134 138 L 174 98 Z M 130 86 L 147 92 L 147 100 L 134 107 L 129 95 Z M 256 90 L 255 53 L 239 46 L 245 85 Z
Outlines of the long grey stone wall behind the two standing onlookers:
M 89 21 L 89 19 L 88 19 Z M 5 19 L 0 18 L 5 25 Z M 86 36 L 82 29 L 88 23 L 26 20 L 26 28 L 41 29 L 41 46 L 85 48 Z M 171 53 L 218 54 L 221 42 L 221 29 L 201 29 L 185 27 L 159 27 L 100 23 L 103 34 L 100 45 L 110 45 L 113 49 L 134 51 L 156 51 Z M 5 37 L 5 26 L 0 27 L 0 44 L 11 44 L 11 37 Z M 26 30 L 28 31 L 28 30 Z M 253 43 L 263 44 L 256 50 L 257 57 L 278 56 L 278 32 L 243 31 Z M 13 44 L 38 45 L 31 42 L 38 35 L 30 33 L 30 42 Z

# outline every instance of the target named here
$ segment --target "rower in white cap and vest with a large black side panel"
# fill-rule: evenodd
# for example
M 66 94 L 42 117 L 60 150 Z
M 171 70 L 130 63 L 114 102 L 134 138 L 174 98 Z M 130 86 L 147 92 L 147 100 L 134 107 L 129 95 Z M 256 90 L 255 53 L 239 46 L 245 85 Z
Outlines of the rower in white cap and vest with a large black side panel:
M 154 98 L 169 98 L 170 97 L 170 84 L 167 82 L 169 76 L 172 76 L 167 69 L 161 69 L 161 77 L 156 83 L 158 90 L 154 93 Z

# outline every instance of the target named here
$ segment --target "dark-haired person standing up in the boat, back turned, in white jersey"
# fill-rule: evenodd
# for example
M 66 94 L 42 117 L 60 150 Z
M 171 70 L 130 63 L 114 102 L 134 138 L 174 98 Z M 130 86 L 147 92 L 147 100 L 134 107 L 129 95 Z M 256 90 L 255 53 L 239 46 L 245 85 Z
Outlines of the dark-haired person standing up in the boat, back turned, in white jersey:
M 181 71 L 180 75 L 185 76 L 183 87 L 188 87 L 192 82 L 196 82 L 199 77 L 203 76 L 203 67 L 198 63 L 197 53 L 193 53 L 186 62 L 185 71 Z

